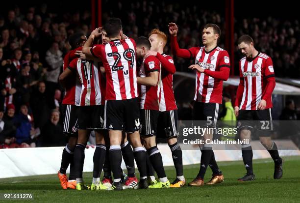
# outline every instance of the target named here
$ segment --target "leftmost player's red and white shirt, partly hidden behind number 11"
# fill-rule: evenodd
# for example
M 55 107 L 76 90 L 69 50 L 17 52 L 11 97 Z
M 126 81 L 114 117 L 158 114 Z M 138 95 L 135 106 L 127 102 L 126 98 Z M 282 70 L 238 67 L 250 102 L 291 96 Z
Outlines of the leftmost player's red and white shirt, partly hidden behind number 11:
M 82 50 L 82 47 L 78 47 L 75 50 L 71 50 L 66 54 L 64 58 L 63 70 L 65 70 L 69 66 L 70 62 L 74 58 L 77 58 L 77 56 L 75 55 L 75 52 L 77 50 Z M 76 74 L 74 74 L 73 76 L 66 78 L 65 84 L 65 96 L 63 98 L 62 104 L 71 104 L 79 106 L 81 92 L 81 84 L 79 78 L 76 76 Z

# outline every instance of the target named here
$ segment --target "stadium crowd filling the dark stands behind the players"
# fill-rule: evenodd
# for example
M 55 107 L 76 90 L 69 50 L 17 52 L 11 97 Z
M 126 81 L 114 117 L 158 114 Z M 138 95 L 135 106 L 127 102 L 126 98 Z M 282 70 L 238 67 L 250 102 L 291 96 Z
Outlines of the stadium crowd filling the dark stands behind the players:
M 179 46 L 201 44 L 201 27 L 206 23 L 226 32 L 225 20 L 217 12 L 179 3 L 117 2 L 114 8 L 103 0 L 103 22 L 111 16 L 123 20 L 129 37 L 147 36 L 151 29 L 168 33 L 168 23 L 176 22 Z M 126 10 L 126 12 L 123 12 Z M 15 6 L 0 16 L 0 147 L 65 145 L 60 105 L 63 89 L 58 84 L 63 57 L 70 51 L 68 36 L 76 31 L 89 35 L 88 11 L 53 13 L 46 4 Z M 260 51 L 273 58 L 277 77 L 300 77 L 300 25 L 268 17 L 236 20 L 235 40 L 250 34 Z M 224 47 L 224 35 L 220 47 Z M 165 52 L 171 54 L 170 46 Z M 238 50 L 236 50 L 238 62 Z M 192 61 L 175 58 L 177 71 L 188 71 Z M 238 65 L 235 65 L 238 73 Z

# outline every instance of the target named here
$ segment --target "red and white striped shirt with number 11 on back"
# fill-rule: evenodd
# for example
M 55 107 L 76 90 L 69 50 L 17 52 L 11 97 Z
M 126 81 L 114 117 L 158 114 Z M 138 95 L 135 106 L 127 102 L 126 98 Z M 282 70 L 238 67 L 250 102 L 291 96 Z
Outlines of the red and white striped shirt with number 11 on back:
M 82 82 L 79 106 L 104 105 L 105 82 L 100 66 L 93 61 L 75 58 L 68 68 L 76 70 Z

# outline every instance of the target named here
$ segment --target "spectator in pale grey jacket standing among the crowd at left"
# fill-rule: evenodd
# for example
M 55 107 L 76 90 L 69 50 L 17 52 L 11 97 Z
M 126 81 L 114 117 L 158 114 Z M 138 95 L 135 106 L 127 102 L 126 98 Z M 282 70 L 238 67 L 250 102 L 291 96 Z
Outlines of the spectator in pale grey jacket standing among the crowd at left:
M 53 42 L 46 52 L 46 61 L 49 65 L 46 73 L 47 87 L 54 92 L 58 86 L 58 77 L 63 64 L 62 52 L 59 50 L 57 42 Z

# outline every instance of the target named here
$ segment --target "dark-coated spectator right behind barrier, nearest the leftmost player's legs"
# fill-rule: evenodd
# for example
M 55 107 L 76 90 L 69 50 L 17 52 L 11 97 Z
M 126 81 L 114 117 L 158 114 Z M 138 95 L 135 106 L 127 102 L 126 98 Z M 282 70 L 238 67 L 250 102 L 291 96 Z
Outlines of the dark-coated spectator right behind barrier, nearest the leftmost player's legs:
M 65 146 L 66 136 L 59 121 L 59 111 L 52 110 L 50 120 L 45 124 L 39 138 L 39 146 Z

